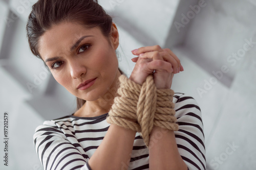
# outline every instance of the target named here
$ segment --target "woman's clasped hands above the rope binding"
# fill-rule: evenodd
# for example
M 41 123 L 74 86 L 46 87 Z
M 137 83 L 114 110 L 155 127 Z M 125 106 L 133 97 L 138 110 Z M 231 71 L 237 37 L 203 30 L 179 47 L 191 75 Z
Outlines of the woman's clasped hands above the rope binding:
M 132 59 L 136 64 L 130 76 L 137 84 L 142 85 L 147 76 L 153 74 L 157 89 L 170 89 L 174 74 L 184 71 L 178 57 L 168 48 L 146 46 L 132 53 L 139 56 Z

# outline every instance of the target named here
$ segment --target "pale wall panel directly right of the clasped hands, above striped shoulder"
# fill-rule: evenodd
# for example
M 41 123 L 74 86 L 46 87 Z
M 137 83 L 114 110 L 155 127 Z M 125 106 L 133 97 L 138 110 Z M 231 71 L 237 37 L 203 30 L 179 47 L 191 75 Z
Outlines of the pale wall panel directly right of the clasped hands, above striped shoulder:
M 173 52 L 181 60 L 184 71 L 174 76 L 172 89 L 175 92 L 188 94 L 198 102 L 204 123 L 205 145 L 208 148 L 208 143 L 212 140 L 212 131 L 215 129 L 216 120 L 220 116 L 220 110 L 229 89 L 189 59 L 193 56 L 186 48 L 176 47 Z M 206 92 L 201 92 L 203 90 Z

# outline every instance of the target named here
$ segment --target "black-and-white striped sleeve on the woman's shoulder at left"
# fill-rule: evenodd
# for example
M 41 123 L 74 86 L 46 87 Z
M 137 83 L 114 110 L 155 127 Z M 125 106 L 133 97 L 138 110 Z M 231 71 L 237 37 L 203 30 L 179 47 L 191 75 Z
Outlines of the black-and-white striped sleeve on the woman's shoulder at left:
M 53 122 L 37 127 L 33 138 L 44 169 L 88 169 L 87 160 Z

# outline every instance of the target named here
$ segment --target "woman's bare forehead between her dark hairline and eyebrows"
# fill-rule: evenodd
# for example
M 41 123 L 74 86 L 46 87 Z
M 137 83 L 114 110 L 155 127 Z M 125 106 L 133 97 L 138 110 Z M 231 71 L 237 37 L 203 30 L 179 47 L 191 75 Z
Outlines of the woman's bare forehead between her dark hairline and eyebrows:
M 54 25 L 39 38 L 38 52 L 45 61 L 46 56 L 67 52 L 79 38 L 88 35 L 96 38 L 103 36 L 98 27 L 88 29 L 79 23 L 62 22 Z

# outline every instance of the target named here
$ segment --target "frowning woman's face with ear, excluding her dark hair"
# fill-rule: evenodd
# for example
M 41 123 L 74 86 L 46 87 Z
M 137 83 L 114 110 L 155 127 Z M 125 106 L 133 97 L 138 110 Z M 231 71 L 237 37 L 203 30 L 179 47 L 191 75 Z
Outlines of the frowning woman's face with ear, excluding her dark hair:
M 115 87 L 119 42 L 113 26 L 109 41 L 98 27 L 73 22 L 53 26 L 39 39 L 39 54 L 55 80 L 80 99 L 95 101 Z

